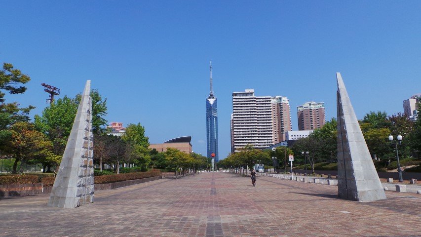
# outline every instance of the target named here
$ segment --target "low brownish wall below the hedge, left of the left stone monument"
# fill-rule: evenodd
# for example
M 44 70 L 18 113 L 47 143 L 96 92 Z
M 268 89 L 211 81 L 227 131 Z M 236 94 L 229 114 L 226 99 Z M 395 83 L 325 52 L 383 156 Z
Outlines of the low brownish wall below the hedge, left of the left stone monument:
M 0 197 L 29 196 L 42 194 L 43 183 L 0 185 Z

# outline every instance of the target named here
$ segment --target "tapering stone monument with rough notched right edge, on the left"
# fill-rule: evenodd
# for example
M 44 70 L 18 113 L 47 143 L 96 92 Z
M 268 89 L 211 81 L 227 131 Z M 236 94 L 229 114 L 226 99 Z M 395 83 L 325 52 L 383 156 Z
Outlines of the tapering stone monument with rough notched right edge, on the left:
M 48 206 L 75 208 L 93 202 L 91 81 L 87 80 Z

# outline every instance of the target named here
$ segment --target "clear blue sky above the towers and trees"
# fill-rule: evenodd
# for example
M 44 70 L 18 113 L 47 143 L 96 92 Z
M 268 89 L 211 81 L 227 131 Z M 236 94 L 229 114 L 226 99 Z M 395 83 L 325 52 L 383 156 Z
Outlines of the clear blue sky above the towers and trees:
M 111 121 L 140 122 L 151 143 L 192 136 L 206 155 L 209 61 L 219 154 L 230 152 L 231 93 L 325 102 L 341 72 L 358 118 L 402 112 L 421 92 L 421 1 L 2 1 L 0 62 L 31 77 L 7 101 L 37 107 L 40 83 L 74 96 L 87 79 Z

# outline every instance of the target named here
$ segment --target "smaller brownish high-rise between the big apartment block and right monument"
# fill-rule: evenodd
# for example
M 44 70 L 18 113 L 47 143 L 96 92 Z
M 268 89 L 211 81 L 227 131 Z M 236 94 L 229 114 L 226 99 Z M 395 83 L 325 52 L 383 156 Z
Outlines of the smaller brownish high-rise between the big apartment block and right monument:
M 325 103 L 314 101 L 297 106 L 298 130 L 314 130 L 326 123 Z

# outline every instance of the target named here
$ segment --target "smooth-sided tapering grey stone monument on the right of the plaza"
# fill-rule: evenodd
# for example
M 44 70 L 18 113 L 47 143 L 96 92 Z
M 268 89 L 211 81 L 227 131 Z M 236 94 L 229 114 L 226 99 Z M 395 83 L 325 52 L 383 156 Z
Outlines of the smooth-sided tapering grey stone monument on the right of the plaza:
M 338 196 L 355 201 L 386 199 L 340 73 L 338 81 Z

